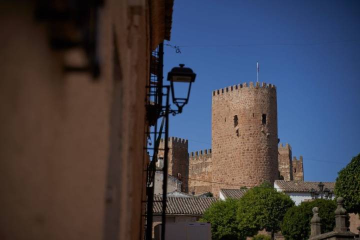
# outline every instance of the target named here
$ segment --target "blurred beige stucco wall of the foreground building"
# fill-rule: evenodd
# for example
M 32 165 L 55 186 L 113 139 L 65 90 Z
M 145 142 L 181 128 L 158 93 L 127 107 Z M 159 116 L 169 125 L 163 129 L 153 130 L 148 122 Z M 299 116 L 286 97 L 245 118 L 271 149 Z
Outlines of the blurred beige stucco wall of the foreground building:
M 2 240 L 140 238 L 149 49 L 145 1 L 129 2 L 100 9 L 97 81 L 62 71 L 81 50 L 50 49 L 31 1 L 0 2 Z

